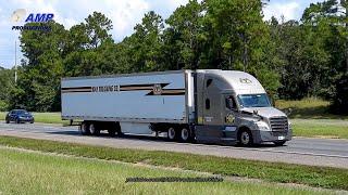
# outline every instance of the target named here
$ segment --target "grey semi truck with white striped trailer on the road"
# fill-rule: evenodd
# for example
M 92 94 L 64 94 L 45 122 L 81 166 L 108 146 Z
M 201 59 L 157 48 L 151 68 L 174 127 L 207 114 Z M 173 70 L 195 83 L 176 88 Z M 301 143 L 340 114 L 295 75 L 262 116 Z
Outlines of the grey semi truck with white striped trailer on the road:
M 84 135 L 108 131 L 170 141 L 241 144 L 291 140 L 287 115 L 250 74 L 198 69 L 61 80 L 62 119 Z

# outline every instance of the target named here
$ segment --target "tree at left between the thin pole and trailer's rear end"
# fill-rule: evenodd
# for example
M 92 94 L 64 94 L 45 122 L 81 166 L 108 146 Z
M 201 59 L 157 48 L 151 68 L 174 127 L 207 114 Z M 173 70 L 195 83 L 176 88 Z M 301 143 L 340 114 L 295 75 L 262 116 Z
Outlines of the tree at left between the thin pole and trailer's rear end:
M 27 61 L 22 62 L 12 100 L 32 110 L 60 109 L 58 91 L 63 76 L 62 53 L 66 44 L 66 30 L 54 21 L 47 25 L 51 27 L 50 31 L 23 30 L 20 37 L 22 52 Z

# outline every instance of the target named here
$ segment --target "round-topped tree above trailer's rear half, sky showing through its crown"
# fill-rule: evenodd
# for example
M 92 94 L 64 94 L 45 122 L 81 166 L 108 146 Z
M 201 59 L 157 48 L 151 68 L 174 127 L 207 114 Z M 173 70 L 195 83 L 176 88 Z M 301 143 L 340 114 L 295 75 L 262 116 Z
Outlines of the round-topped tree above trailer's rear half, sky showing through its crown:
M 112 22 L 94 12 L 85 23 L 69 31 L 70 41 L 64 56 L 65 76 L 90 76 L 113 73 L 114 43 L 110 35 Z M 110 61 L 105 61 L 110 60 Z

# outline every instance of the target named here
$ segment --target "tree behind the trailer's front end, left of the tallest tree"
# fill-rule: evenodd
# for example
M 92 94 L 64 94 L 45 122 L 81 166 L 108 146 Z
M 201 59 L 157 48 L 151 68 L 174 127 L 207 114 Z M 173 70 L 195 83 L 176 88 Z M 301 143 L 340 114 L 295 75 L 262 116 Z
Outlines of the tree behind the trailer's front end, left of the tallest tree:
M 207 40 L 203 31 L 203 6 L 197 0 L 177 8 L 165 21 L 169 27 L 164 31 L 165 51 L 171 58 L 170 68 L 197 69 Z

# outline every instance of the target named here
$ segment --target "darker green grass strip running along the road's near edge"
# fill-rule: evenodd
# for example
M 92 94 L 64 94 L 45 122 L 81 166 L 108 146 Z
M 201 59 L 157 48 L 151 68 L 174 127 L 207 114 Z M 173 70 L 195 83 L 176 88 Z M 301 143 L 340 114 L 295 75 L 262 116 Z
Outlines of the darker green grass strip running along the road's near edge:
M 0 136 L 0 144 L 50 153 L 115 159 L 126 162 L 146 162 L 223 176 L 247 177 L 272 182 L 348 190 L 348 169 L 264 162 L 173 152 L 122 150 L 12 136 Z

